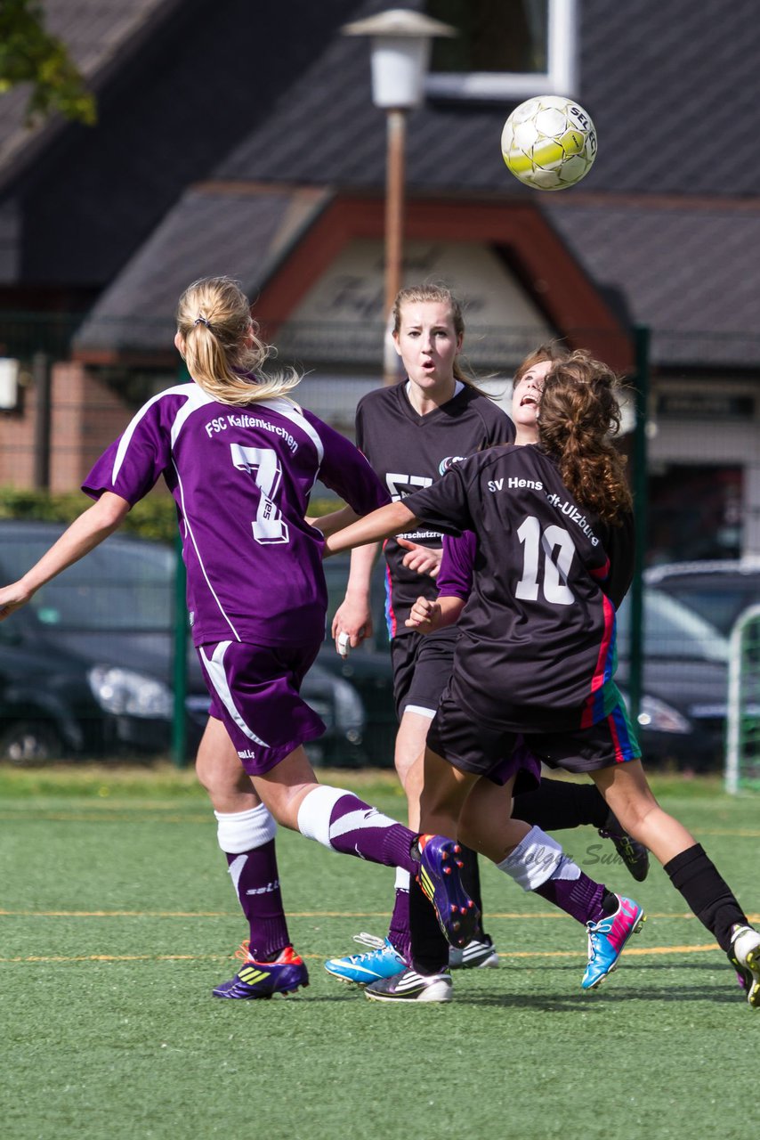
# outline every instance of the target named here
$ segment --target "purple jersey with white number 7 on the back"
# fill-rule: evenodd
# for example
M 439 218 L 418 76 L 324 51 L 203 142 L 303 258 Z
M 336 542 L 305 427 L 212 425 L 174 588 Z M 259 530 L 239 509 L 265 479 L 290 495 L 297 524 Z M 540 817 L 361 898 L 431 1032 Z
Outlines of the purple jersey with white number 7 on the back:
M 358 513 L 387 502 L 343 435 L 283 397 L 237 407 L 195 383 L 148 400 L 82 484 L 130 504 L 163 475 L 177 504 L 196 645 L 307 645 L 325 635 L 319 478 Z

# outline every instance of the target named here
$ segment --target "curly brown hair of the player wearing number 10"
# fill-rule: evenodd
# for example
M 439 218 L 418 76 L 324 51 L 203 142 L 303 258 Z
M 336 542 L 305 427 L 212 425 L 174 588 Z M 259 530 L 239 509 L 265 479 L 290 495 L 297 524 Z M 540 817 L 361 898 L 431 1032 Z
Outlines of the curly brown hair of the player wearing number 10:
M 579 349 L 553 366 L 544 382 L 540 446 L 553 455 L 578 502 L 607 522 L 630 510 L 626 457 L 613 443 L 620 431 L 619 376 Z

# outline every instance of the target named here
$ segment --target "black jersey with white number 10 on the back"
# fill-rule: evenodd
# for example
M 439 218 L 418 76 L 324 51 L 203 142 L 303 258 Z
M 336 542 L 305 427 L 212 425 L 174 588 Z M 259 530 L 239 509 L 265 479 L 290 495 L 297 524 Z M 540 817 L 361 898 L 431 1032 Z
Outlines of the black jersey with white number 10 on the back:
M 491 726 L 587 727 L 619 694 L 610 530 L 536 446 L 495 447 L 407 498 L 427 524 L 476 536 L 451 694 Z

